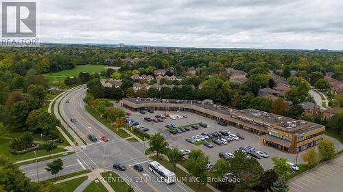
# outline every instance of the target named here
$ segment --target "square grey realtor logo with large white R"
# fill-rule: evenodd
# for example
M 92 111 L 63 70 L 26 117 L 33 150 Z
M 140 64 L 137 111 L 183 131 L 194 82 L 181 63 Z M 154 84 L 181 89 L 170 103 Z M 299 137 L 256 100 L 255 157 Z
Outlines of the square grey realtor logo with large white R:
M 2 2 L 2 37 L 36 37 L 36 2 Z

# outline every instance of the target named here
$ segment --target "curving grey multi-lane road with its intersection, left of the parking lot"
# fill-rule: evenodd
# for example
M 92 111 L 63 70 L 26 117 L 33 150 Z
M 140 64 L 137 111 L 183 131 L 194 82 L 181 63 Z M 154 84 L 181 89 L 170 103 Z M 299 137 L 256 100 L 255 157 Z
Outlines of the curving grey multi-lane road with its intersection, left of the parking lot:
M 139 142 L 128 142 L 121 139 L 118 135 L 110 131 L 99 121 L 95 120 L 84 109 L 83 98 L 86 94 L 86 89 L 80 87 L 75 90 L 66 92 L 56 100 L 54 106 L 55 113 L 57 107 L 64 120 L 67 121 L 69 127 L 73 129 L 78 135 L 84 138 L 87 145 L 76 154 L 64 156 L 62 159 L 64 169 L 59 175 L 69 174 L 71 172 L 78 172 L 82 169 L 106 169 L 113 170 L 114 163 L 123 163 L 127 169 L 125 172 L 116 171 L 122 178 L 128 180 L 135 191 L 192 191 L 182 182 L 175 182 L 174 184 L 165 184 L 165 182 L 158 181 L 157 176 L 148 170 L 148 164 L 151 159 L 145 156 L 145 145 Z M 69 100 L 69 103 L 66 101 Z M 58 105 L 60 103 L 60 105 Z M 56 115 L 58 117 L 58 115 Z M 76 122 L 71 122 L 70 119 L 75 118 Z M 62 120 L 61 120 L 62 121 Z M 67 128 L 71 132 L 71 129 Z M 86 133 L 94 134 L 96 137 L 105 135 L 108 137 L 108 142 L 103 142 L 101 139 L 93 142 L 86 139 Z M 75 133 L 71 133 L 75 135 Z M 80 139 L 78 143 L 83 144 Z M 51 160 L 52 161 L 52 160 Z M 38 176 L 40 180 L 53 178 L 51 174 L 45 171 L 47 163 L 51 161 L 42 161 L 37 165 L 23 165 L 20 168 L 25 172 L 26 176 L 32 180 L 36 180 L 36 166 L 38 166 Z M 136 172 L 132 165 L 141 164 L 144 168 L 143 172 Z

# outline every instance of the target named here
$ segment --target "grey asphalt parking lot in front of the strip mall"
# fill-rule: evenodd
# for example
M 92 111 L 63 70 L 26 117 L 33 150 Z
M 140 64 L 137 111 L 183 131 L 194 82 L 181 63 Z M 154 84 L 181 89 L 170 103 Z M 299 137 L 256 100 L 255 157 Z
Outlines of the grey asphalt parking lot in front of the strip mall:
M 119 107 L 118 105 L 116 107 Z M 274 148 L 271 148 L 269 146 L 264 146 L 262 141 L 260 141 L 259 136 L 255 135 L 253 133 L 249 133 L 248 131 L 244 131 L 239 128 L 235 128 L 233 126 L 221 126 L 217 124 L 215 120 L 211 120 L 209 118 L 205 118 L 202 115 L 197 115 L 188 111 L 154 111 L 154 113 L 148 113 L 146 111 L 145 114 L 141 114 L 137 111 L 133 112 L 126 108 L 121 107 L 124 109 L 124 111 L 128 111 L 132 113 L 130 115 L 130 119 L 139 122 L 139 124 L 143 125 L 144 127 L 149 128 L 149 131 L 147 133 L 161 133 L 165 137 L 166 141 L 169 143 L 169 147 L 178 147 L 181 149 L 200 149 L 202 150 L 206 155 L 209 156 L 209 159 L 212 164 L 214 164 L 218 159 L 218 154 L 220 152 L 230 152 L 233 153 L 235 150 L 239 149 L 241 146 L 252 146 L 256 149 L 256 151 L 264 151 L 267 152 L 269 157 L 268 158 L 262 158 L 258 159 L 259 163 L 263 166 L 265 169 L 272 168 L 272 157 L 283 157 L 287 159 L 287 161 L 295 163 L 296 162 L 296 154 L 290 154 L 281 152 L 279 150 L 276 150 Z M 176 118 L 176 120 L 171 120 L 170 118 L 165 118 L 164 122 L 147 122 L 144 120 L 144 118 L 155 118 L 155 115 L 158 114 L 164 114 L 167 112 L 170 116 L 177 116 L 177 115 L 183 115 L 186 114 L 188 118 Z M 207 128 L 199 128 L 198 130 L 194 130 L 193 128 L 190 129 L 190 131 L 184 132 L 184 133 L 178 133 L 176 135 L 173 135 L 167 131 L 167 128 L 165 125 L 167 124 L 176 124 L 176 127 L 180 126 L 187 126 L 190 124 L 196 124 L 204 122 L 207 124 Z M 187 142 L 185 139 L 191 137 L 200 135 L 201 133 L 213 133 L 215 131 L 221 131 L 223 129 L 226 129 L 230 131 L 231 133 L 239 133 L 241 135 L 244 135 L 245 139 L 240 139 L 239 141 L 231 141 L 230 143 L 222 146 L 217 146 L 215 143 L 213 143 L 213 148 L 207 148 L 203 145 L 195 145 L 193 143 Z M 298 154 L 298 164 L 304 163 L 303 159 L 301 159 L 301 153 Z

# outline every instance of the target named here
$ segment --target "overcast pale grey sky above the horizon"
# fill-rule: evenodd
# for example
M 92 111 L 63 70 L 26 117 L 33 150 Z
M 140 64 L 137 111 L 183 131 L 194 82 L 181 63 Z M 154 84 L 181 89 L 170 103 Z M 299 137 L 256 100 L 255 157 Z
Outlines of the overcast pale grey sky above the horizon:
M 343 50 L 342 0 L 40 0 L 40 42 Z

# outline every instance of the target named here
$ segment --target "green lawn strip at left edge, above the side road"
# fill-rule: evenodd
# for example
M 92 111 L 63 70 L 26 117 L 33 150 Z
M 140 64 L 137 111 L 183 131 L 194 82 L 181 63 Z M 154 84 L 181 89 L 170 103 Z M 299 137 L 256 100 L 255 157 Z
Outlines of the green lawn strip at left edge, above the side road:
M 32 159 L 34 158 L 34 152 L 27 152 L 25 154 L 12 154 L 10 153 L 10 143 L 11 139 L 0 139 L 0 155 L 6 156 L 10 158 L 10 161 L 16 162 L 16 161 L 22 161 L 25 159 Z M 51 154 L 57 153 L 57 152 L 64 152 L 67 150 L 64 150 L 62 148 L 56 148 Z M 49 153 L 45 150 L 36 150 L 37 156 L 45 156 Z

